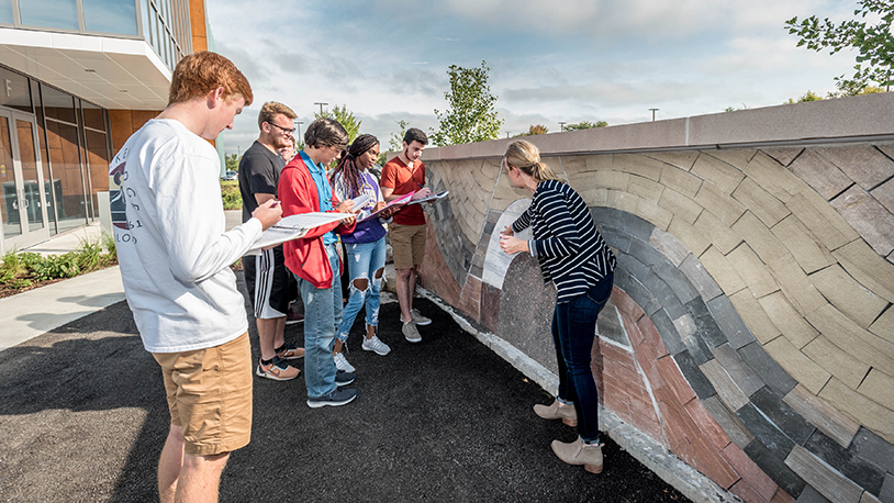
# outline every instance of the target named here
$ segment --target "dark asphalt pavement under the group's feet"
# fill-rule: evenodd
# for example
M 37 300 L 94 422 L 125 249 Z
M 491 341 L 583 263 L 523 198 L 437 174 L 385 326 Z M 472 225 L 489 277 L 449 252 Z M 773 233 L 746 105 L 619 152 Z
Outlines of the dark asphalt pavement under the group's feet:
M 421 344 L 401 335 L 398 304 L 382 305 L 384 357 L 360 348 L 358 317 L 350 404 L 310 409 L 303 378 L 256 378 L 252 443 L 232 455 L 221 501 L 685 501 L 610 439 L 602 474 L 559 461 L 550 441 L 575 432 L 530 409 L 551 396 L 435 304 L 416 305 L 434 320 Z M 287 339 L 302 344 L 303 325 Z M 168 422 L 125 302 L 2 350 L 0 501 L 157 500 Z

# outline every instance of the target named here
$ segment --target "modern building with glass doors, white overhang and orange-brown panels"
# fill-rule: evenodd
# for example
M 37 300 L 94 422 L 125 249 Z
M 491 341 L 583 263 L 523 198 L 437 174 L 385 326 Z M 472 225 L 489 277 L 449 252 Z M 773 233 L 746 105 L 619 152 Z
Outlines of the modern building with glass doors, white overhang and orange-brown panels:
M 0 0 L 0 253 L 99 219 L 112 155 L 209 48 L 203 0 Z

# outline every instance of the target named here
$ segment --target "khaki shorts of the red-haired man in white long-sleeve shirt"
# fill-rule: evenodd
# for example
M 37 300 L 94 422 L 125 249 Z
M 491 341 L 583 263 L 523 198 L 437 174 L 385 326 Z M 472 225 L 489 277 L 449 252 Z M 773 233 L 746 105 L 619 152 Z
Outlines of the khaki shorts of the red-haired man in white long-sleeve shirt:
M 221 346 L 153 353 L 161 366 L 170 424 L 183 428 L 191 456 L 230 452 L 252 438 L 252 348 L 248 333 Z

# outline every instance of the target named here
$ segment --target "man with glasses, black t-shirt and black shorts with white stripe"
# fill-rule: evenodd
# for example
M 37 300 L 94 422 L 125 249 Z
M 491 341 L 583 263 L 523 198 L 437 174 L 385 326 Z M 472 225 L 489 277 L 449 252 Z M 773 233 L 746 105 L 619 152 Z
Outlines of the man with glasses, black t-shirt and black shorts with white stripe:
M 264 103 L 258 114 L 258 139 L 245 150 L 239 160 L 239 192 L 242 192 L 243 222 L 266 201 L 277 199 L 279 175 L 286 160 L 279 149 L 293 145 L 292 120 L 295 113 L 276 101 Z M 282 245 L 243 257 L 245 284 L 255 309 L 258 326 L 260 360 L 255 373 L 275 381 L 294 379 L 301 371 L 288 360 L 304 356 L 304 349 L 286 344 L 286 317 L 289 312 L 292 275 L 286 269 Z

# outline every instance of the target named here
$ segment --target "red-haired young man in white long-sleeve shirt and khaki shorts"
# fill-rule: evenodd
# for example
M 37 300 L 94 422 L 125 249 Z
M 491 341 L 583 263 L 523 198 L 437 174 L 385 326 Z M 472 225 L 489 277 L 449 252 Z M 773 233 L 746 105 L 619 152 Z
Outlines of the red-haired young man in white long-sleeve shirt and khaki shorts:
M 177 64 L 168 107 L 112 160 L 114 237 L 127 304 L 161 366 L 170 431 L 158 461 L 161 502 L 217 501 L 230 452 L 252 433 L 248 321 L 230 265 L 280 220 L 270 200 L 224 232 L 217 152 L 252 87 L 214 53 Z

